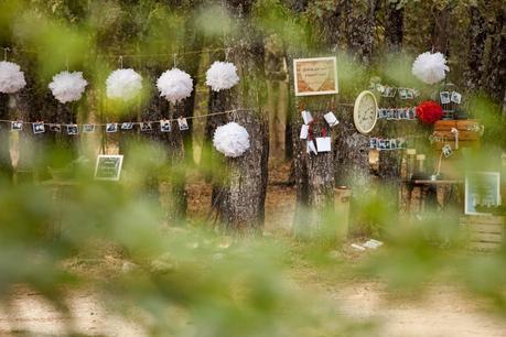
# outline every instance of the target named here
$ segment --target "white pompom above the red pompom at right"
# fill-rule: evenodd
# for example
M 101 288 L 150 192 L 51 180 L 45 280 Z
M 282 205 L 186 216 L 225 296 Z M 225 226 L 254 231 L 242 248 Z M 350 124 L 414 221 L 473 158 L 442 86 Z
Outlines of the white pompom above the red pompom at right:
M 411 68 L 412 74 L 429 85 L 441 81 L 450 68 L 446 66 L 446 58 L 441 53 L 426 52 L 418 55 Z

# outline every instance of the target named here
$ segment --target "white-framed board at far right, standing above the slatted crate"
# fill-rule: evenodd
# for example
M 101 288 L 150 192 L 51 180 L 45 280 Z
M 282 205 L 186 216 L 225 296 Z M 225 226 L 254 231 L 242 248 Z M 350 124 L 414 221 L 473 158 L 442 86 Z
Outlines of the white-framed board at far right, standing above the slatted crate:
M 480 215 L 476 206 L 500 205 L 500 174 L 475 172 L 465 176 L 465 214 Z

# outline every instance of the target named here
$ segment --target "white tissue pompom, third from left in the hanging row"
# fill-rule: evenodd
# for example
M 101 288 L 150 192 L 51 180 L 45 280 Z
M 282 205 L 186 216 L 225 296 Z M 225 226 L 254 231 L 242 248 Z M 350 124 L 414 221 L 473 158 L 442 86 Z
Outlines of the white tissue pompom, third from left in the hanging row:
M 117 69 L 106 80 L 107 97 L 129 100 L 142 89 L 142 77 L 133 69 Z

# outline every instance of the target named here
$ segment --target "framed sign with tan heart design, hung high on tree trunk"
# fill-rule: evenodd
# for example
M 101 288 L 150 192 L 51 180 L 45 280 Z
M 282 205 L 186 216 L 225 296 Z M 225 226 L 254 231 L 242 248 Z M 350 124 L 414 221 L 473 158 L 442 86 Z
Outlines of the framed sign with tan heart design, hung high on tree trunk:
M 336 57 L 293 59 L 295 96 L 337 94 Z

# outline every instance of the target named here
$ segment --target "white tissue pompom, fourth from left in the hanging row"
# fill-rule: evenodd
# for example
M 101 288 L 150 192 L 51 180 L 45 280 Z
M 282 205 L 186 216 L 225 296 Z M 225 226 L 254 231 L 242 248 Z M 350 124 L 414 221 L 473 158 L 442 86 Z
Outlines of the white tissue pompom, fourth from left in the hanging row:
M 160 96 L 175 104 L 192 95 L 193 80 L 185 72 L 172 68 L 159 77 L 157 87 L 160 91 Z

